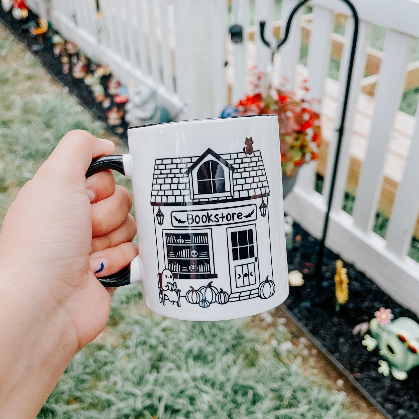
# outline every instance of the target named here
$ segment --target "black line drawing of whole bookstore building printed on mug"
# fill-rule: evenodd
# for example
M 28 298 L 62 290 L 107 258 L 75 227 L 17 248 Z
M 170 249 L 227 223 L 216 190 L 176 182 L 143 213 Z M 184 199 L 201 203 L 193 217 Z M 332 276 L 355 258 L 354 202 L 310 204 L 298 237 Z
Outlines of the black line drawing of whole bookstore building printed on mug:
M 151 205 L 163 305 L 207 308 L 274 295 L 269 185 L 261 152 L 251 138 L 245 144 L 238 153 L 209 148 L 155 160 Z

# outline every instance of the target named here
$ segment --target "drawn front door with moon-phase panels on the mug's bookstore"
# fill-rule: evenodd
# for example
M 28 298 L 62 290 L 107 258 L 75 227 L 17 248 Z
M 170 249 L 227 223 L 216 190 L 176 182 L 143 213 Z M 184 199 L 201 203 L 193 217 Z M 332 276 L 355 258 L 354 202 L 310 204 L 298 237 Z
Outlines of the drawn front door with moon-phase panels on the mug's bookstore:
M 256 225 L 227 229 L 231 292 L 257 290 L 260 284 Z

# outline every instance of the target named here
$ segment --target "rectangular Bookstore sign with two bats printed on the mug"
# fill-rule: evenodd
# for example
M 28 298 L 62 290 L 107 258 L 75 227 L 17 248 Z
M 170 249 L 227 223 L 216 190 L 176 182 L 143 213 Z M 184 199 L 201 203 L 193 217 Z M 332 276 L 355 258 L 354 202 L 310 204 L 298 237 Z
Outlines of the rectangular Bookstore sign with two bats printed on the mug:
M 172 211 L 173 227 L 211 227 L 215 225 L 237 224 L 255 221 L 257 218 L 256 205 L 241 207 L 194 209 L 191 211 Z

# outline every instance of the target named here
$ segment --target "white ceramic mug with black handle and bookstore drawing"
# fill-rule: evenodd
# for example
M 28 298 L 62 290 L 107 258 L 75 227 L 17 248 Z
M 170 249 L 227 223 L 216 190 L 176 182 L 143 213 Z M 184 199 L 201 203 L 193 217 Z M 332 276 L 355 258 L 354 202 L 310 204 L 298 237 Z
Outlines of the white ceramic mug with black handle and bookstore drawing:
M 99 278 L 143 282 L 145 305 L 181 320 L 251 316 L 288 295 L 278 118 L 128 130 L 129 154 L 94 160 L 132 180 L 140 256 Z

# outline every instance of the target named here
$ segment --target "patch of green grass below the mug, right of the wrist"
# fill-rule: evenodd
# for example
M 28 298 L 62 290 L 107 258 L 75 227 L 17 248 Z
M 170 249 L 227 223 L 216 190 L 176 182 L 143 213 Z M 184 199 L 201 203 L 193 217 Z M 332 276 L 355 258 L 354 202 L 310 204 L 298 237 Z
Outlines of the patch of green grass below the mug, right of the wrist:
M 139 298 L 140 286 L 118 290 L 112 327 L 77 354 L 39 418 L 359 417 L 283 349 L 284 326 L 164 319 Z

